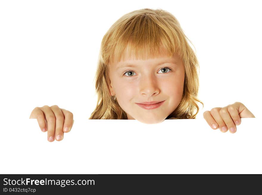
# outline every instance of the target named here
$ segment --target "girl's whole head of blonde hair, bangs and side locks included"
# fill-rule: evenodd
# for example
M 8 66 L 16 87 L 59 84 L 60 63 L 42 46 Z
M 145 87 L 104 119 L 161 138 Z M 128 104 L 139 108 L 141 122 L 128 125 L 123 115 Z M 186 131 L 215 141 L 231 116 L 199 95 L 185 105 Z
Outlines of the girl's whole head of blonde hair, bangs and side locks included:
M 197 99 L 199 63 L 187 40 L 177 19 L 165 10 L 135 10 L 119 18 L 102 39 L 96 71 L 98 101 L 89 119 L 127 119 L 116 97 L 110 95 L 110 62 L 130 57 L 146 60 L 163 52 L 170 57 L 178 54 L 185 66 L 182 99 L 166 119 L 195 118 L 199 112 L 197 103 L 204 104 Z

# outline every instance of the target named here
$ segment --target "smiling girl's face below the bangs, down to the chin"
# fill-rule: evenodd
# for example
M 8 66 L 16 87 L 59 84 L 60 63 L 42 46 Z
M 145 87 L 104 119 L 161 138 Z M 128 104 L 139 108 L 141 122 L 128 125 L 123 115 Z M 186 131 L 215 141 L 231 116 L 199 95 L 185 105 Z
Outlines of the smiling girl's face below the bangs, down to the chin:
M 116 95 L 128 119 L 160 123 L 178 106 L 185 70 L 178 55 L 126 60 L 109 65 L 110 95 Z

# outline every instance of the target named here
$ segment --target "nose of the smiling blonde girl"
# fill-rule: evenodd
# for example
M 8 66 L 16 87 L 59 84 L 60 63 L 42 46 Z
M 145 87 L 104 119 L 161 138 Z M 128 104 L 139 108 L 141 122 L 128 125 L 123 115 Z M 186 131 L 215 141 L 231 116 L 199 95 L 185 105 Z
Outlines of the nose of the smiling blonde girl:
M 140 81 L 140 93 L 143 96 L 156 96 L 160 92 L 157 78 L 154 75 L 144 76 Z

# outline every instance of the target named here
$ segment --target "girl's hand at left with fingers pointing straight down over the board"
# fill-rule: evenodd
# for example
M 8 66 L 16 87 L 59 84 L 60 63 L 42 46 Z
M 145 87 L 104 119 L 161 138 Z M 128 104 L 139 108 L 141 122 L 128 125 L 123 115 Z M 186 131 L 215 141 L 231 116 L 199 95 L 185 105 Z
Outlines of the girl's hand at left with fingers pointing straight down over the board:
M 54 141 L 54 137 L 57 141 L 61 141 L 64 132 L 69 132 L 74 123 L 73 114 L 57 105 L 35 107 L 29 118 L 36 118 L 40 129 L 43 132 L 47 130 L 47 139 L 50 142 Z

